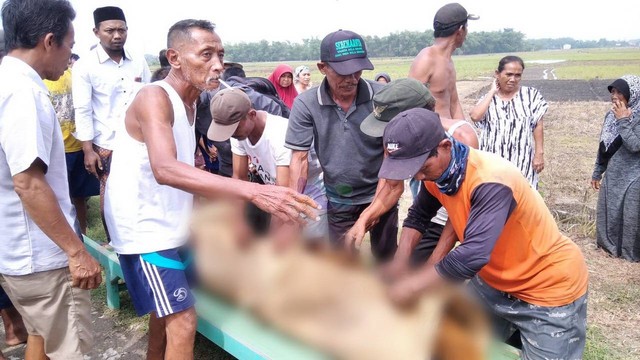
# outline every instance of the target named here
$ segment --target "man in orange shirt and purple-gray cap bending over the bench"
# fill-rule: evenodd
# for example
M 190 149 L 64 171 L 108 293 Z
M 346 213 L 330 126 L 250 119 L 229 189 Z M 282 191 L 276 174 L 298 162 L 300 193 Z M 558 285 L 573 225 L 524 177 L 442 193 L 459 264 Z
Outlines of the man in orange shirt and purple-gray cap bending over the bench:
M 440 206 L 455 232 L 440 238 L 433 256 L 446 255 L 397 279 L 392 298 L 405 302 L 438 283 L 471 279 L 498 335 L 507 339 L 520 331 L 523 358 L 581 358 L 587 267 L 520 171 L 447 135 L 438 115 L 426 109 L 398 114 L 383 143 L 388 156 L 379 177 L 415 178 L 427 190 L 409 209 L 398 251 L 417 243 Z M 457 239 L 460 246 L 448 252 Z

